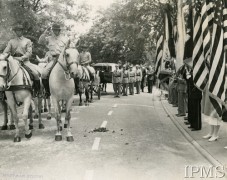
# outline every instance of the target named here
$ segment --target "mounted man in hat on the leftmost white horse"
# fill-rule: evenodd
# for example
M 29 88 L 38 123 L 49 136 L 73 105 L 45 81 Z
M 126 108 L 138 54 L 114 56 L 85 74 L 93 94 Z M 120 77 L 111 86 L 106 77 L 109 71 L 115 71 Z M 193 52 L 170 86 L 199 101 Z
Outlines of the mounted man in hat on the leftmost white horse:
M 13 31 L 16 34 L 16 38 L 11 39 L 8 42 L 3 54 L 6 56 L 11 54 L 14 59 L 21 62 L 27 71 L 29 71 L 33 77 L 33 87 L 40 89 L 39 77 L 41 76 L 40 69 L 37 65 L 32 64 L 29 58 L 32 56 L 32 42 L 30 39 L 23 36 L 24 27 L 21 24 L 17 24 L 13 27 Z

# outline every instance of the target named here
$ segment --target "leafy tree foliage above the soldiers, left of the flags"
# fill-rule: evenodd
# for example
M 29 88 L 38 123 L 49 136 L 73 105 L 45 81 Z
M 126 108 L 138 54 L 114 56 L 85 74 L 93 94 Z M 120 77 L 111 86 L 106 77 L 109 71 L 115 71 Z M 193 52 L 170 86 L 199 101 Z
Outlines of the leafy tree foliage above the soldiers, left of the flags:
M 145 63 L 154 60 L 155 34 L 163 25 L 164 4 L 159 0 L 131 0 L 100 12 L 91 31 L 82 37 L 89 43 L 94 61 Z

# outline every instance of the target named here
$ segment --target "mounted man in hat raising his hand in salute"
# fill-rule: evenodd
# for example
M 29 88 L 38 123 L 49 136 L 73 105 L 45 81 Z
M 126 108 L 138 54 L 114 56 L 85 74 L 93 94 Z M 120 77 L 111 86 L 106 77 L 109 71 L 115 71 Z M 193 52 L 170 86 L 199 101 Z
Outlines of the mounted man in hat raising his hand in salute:
M 45 45 L 49 50 L 46 54 L 48 56 L 47 65 L 42 70 L 43 85 L 48 91 L 46 95 L 49 96 L 49 75 L 63 49 L 69 46 L 70 40 L 67 36 L 61 34 L 61 26 L 59 24 L 53 24 L 40 36 L 38 43 Z

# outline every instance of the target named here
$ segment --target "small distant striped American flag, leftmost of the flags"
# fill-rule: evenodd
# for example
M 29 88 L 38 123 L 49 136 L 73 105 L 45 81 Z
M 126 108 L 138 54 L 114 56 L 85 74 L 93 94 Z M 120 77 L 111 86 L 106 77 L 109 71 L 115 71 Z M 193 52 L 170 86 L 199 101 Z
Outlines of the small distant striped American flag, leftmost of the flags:
M 155 74 L 158 73 L 158 69 L 161 66 L 161 62 L 162 62 L 163 41 L 164 41 L 163 34 L 162 32 L 160 32 L 157 37 L 157 43 L 156 43 Z

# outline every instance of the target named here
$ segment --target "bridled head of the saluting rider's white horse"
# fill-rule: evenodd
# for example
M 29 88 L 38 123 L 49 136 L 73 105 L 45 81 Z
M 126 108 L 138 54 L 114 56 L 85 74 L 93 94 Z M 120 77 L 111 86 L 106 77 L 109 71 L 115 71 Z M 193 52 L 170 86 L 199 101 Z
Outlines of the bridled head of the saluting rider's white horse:
M 76 49 L 69 48 L 64 52 L 66 68 L 71 77 L 75 77 L 78 71 L 79 52 Z

